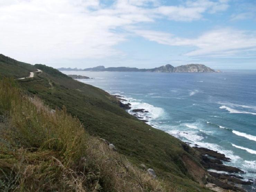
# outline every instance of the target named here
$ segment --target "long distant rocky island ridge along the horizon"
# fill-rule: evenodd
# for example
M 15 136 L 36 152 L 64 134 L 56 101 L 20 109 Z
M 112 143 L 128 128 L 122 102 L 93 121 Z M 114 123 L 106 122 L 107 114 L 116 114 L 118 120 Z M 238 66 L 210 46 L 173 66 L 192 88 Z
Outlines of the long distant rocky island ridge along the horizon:
M 76 70 L 76 68 L 58 68 L 60 71 L 81 71 Z M 170 64 L 163 65 L 156 68 L 149 68 L 149 69 L 139 69 L 136 67 L 108 67 L 105 68 L 104 66 L 97 66 L 91 68 L 85 68 L 82 71 L 119 71 L 119 72 L 167 72 L 167 73 L 205 73 L 205 72 L 216 72 L 210 67 L 207 67 L 202 64 L 188 64 L 188 65 L 181 65 L 174 67 Z

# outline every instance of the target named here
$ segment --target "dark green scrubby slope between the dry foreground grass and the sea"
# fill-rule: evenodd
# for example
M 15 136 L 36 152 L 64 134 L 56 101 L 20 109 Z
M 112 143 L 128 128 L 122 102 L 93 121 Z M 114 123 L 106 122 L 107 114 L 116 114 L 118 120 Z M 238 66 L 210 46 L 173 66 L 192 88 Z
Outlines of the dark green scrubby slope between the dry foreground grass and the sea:
M 53 68 L 35 67 L 44 72 L 33 79 L 19 80 L 22 88 L 52 108 L 65 105 L 91 135 L 107 139 L 130 161 L 146 164 L 172 185 L 186 191 L 207 191 L 191 180 L 182 155 L 194 158 L 185 152 L 182 141 L 129 115 L 103 90 L 72 80 Z

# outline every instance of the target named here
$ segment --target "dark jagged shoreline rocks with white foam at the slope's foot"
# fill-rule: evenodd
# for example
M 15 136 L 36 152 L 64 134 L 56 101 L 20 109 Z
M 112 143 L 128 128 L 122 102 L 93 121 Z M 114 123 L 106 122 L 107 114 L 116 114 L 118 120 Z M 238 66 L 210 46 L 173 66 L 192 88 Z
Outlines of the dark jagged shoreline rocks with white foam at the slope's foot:
M 135 116 L 137 119 L 144 121 L 146 124 L 155 127 L 150 120 L 153 120 L 153 117 L 150 117 L 149 110 L 144 108 L 138 108 L 134 106 L 133 102 L 130 101 L 132 98 L 126 98 L 121 94 L 112 94 L 120 102 L 120 107 L 124 108 L 129 114 Z M 136 109 L 137 107 L 137 109 Z M 170 134 L 170 133 L 169 133 Z M 184 132 L 184 134 L 188 134 Z M 172 135 L 172 134 L 170 134 Z M 184 141 L 183 141 L 184 142 Z M 200 163 L 207 170 L 209 177 L 207 178 L 207 183 L 205 186 L 212 189 L 213 191 L 245 191 L 246 186 L 253 184 L 256 180 L 245 179 L 243 174 L 245 171 L 234 166 L 225 165 L 225 162 L 231 162 L 232 159 L 226 157 L 225 154 L 218 152 L 217 150 L 211 150 L 197 144 L 192 144 L 189 142 L 184 142 L 184 149 L 192 147 L 200 155 Z M 185 149 L 186 150 L 186 149 Z

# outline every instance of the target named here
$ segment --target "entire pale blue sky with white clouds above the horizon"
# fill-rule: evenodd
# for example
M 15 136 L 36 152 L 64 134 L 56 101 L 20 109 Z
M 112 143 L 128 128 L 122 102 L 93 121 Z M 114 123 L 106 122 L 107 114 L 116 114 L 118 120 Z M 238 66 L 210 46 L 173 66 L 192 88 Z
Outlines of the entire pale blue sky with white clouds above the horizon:
M 0 53 L 55 68 L 256 70 L 255 0 L 0 0 Z

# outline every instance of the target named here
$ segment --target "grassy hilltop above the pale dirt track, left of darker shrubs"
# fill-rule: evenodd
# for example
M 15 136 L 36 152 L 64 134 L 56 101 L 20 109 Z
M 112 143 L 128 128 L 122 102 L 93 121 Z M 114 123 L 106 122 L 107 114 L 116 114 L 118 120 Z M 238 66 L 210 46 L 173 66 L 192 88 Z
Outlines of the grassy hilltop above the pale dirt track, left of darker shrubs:
M 36 71 L 33 65 L 16 61 L 10 57 L 0 54 L 1 74 L 16 78 L 27 77 L 32 71 Z

